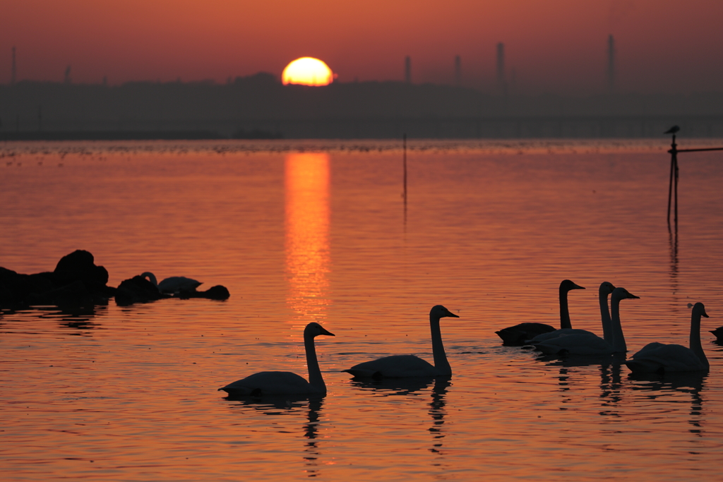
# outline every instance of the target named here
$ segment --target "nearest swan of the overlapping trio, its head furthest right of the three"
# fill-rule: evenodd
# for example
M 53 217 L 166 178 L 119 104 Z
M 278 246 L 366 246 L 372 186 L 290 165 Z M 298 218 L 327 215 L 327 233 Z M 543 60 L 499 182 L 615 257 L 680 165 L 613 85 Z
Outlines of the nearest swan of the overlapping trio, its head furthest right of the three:
M 591 332 L 576 332 L 562 334 L 559 337 L 544 340 L 540 343 L 533 343 L 535 348 L 546 354 L 556 354 L 560 352 L 570 353 L 572 355 L 625 353 L 628 351 L 628 347 L 625 345 L 623 326 L 620 324 L 620 301 L 628 298 L 638 299 L 640 296 L 633 295 L 633 293 L 628 292 L 625 288 L 615 288 L 615 290 L 612 291 L 612 296 L 610 296 L 612 319 L 609 326 L 609 340 L 604 340 Z M 605 301 L 607 301 L 607 296 Z

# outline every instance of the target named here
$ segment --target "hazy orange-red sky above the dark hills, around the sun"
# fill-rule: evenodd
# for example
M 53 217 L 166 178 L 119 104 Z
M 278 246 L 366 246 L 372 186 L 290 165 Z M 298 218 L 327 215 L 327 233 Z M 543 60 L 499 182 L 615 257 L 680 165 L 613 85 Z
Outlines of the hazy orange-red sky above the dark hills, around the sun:
M 603 92 L 607 35 L 620 90 L 722 90 L 720 0 L 4 0 L 0 82 L 111 84 L 215 79 L 315 56 L 338 81 L 452 83 L 491 90 L 495 45 L 520 92 Z M 674 65 L 675 68 L 671 68 Z

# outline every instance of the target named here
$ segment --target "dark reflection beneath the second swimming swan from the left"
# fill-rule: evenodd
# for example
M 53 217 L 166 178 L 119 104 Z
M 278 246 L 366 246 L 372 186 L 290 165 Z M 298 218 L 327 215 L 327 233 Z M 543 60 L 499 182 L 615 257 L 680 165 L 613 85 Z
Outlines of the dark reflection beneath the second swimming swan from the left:
M 432 425 L 429 426 L 429 433 L 432 434 L 432 448 L 429 452 L 441 454 L 442 439 L 445 433 L 442 426 L 445 423 L 447 410 L 445 406 L 447 402 L 448 387 L 452 386 L 451 376 L 417 376 L 409 378 L 397 379 L 369 379 L 369 378 L 353 378 L 351 386 L 367 392 L 374 392 L 380 397 L 394 397 L 412 395 L 415 392 L 421 392 L 432 385 L 432 401 L 429 403 L 429 417 L 432 419 Z

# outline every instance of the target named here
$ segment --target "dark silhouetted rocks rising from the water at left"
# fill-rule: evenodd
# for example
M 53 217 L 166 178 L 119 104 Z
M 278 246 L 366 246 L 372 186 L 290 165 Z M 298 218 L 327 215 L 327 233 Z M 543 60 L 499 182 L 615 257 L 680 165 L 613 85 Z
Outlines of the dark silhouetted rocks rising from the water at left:
M 108 270 L 95 264 L 93 254 L 78 249 L 60 259 L 52 272 L 23 275 L 0 267 L 0 306 L 92 306 L 116 298 L 119 305 L 145 303 L 161 298 L 210 298 L 225 300 L 230 296 L 221 285 L 207 291 L 189 291 L 174 296 L 161 293 L 143 277 L 124 280 L 118 288 L 108 286 Z

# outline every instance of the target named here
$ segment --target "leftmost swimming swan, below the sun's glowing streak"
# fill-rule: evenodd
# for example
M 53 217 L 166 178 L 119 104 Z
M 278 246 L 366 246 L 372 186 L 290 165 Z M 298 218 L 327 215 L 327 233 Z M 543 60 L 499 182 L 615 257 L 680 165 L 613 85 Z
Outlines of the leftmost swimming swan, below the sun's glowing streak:
M 307 352 L 309 382 L 291 371 L 260 371 L 244 379 L 229 383 L 223 390 L 232 396 L 261 397 L 264 395 L 311 395 L 326 393 L 326 384 L 321 376 L 316 356 L 314 337 L 319 335 L 335 336 L 320 324 L 312 322 L 304 328 L 304 349 Z

